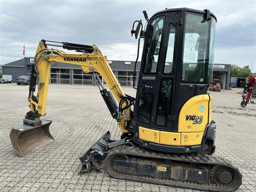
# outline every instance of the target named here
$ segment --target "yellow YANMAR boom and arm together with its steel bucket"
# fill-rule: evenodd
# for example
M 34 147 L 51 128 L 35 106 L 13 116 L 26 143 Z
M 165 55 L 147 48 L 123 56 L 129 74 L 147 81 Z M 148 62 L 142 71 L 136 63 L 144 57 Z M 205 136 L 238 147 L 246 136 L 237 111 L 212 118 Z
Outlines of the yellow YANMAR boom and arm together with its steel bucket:
M 85 73 L 91 73 L 111 116 L 116 119 L 118 126 L 121 128 L 121 132 L 123 134 L 133 132 L 131 106 L 135 99 L 124 94 L 116 76 L 108 65 L 107 57 L 102 55 L 97 45 L 55 43 L 59 44 L 49 44 L 45 40 L 41 40 L 38 44 L 29 84 L 28 102 L 30 111 L 25 115 L 23 124 L 13 127 L 10 132 L 14 150 L 20 156 L 25 156 L 54 140 L 49 131 L 52 121 L 40 119 L 41 116 L 45 115 L 52 62 L 79 65 Z M 49 49 L 47 45 L 59 46 L 82 53 L 65 53 L 58 49 Z M 103 87 L 98 74 L 104 78 L 110 91 Z M 36 91 L 36 84 L 38 85 L 38 91 Z M 118 105 L 115 99 L 119 103 Z

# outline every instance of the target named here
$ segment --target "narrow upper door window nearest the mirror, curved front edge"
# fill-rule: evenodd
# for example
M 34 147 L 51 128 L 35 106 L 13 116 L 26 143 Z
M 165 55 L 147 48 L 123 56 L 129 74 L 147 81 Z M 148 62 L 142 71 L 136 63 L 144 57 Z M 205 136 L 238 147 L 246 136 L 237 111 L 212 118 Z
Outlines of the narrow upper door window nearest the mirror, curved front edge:
M 158 54 L 163 37 L 164 16 L 157 17 L 148 25 L 148 44 L 146 47 L 146 61 L 144 74 L 156 74 Z

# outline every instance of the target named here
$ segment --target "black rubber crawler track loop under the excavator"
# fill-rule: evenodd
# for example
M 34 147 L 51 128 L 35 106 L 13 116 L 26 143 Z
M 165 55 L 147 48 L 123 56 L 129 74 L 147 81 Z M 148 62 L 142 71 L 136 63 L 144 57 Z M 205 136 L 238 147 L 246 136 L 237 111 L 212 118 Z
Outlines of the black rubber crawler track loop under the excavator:
M 189 163 L 198 163 L 198 164 L 209 164 L 212 166 L 221 165 L 222 167 L 228 167 L 234 171 L 234 178 L 227 185 L 220 185 L 217 183 L 197 183 L 193 181 L 176 181 L 174 179 L 169 178 L 154 178 L 147 175 L 134 175 L 124 172 L 118 172 L 112 167 L 112 157 L 116 154 L 126 154 L 128 156 L 138 156 L 138 157 L 147 157 L 147 158 L 160 158 L 160 159 L 171 159 L 180 162 L 189 162 Z M 242 174 L 239 170 L 232 166 L 228 160 L 225 160 L 219 156 L 208 156 L 208 155 L 200 155 L 200 154 L 164 154 L 157 153 L 155 151 L 149 151 L 146 148 L 136 148 L 136 147 L 128 147 L 128 146 L 118 146 L 111 150 L 109 150 L 109 154 L 105 159 L 105 169 L 108 174 L 117 179 L 125 179 L 125 180 L 133 180 L 145 183 L 153 183 L 160 185 L 168 185 L 173 187 L 180 188 L 189 188 L 189 189 L 197 189 L 197 190 L 206 190 L 206 191 L 223 191 L 223 192 L 231 192 L 235 191 L 242 184 Z

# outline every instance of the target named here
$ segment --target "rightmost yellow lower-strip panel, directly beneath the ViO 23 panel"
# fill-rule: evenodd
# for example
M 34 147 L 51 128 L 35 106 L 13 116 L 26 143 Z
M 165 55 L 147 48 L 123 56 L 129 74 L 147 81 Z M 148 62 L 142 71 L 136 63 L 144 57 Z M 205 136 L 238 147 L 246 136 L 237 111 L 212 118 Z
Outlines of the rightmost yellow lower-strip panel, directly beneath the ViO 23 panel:
M 181 133 L 180 145 L 199 145 L 202 142 L 204 132 Z

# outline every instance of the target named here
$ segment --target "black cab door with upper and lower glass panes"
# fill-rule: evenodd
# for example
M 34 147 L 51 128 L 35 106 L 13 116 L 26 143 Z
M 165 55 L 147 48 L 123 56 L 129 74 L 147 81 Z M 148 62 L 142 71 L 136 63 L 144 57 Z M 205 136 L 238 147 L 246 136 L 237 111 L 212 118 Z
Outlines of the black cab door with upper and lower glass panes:
M 135 129 L 173 130 L 180 12 L 149 21 L 135 103 Z

